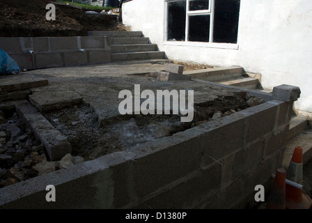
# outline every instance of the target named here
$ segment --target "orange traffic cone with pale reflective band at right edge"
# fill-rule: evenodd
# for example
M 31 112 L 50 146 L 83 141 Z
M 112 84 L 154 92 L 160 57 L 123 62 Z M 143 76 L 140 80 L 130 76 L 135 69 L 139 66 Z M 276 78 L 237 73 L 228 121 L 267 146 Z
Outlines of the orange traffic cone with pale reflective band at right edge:
M 286 178 L 296 183 L 302 184 L 302 148 L 297 146 L 290 161 Z M 286 208 L 288 209 L 309 209 L 312 200 L 302 193 L 302 189 L 286 185 Z

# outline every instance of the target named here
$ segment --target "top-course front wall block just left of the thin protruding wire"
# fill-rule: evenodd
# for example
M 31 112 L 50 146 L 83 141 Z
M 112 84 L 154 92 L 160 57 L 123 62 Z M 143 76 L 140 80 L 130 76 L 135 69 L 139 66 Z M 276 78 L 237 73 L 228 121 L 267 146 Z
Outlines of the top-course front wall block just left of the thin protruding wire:
M 155 145 L 157 146 L 157 144 Z M 164 185 L 195 171 L 199 167 L 202 148 L 196 138 L 134 160 L 134 188 L 144 197 Z

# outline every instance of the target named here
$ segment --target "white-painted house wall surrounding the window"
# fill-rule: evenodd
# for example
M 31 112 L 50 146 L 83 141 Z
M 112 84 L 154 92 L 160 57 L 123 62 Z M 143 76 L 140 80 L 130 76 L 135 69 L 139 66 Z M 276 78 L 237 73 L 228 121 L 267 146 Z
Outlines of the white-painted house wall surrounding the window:
M 260 73 L 265 89 L 279 84 L 299 86 L 302 94 L 295 108 L 312 112 L 312 1 L 241 0 L 238 49 L 167 45 L 165 15 L 165 1 L 123 3 L 123 23 L 143 31 L 169 59 L 242 66 L 247 72 Z

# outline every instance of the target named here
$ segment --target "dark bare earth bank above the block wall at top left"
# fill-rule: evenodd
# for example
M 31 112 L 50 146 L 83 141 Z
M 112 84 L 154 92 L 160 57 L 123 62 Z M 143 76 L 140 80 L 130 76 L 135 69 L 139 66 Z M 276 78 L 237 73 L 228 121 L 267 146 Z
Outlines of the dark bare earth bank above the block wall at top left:
M 49 0 L 1 0 L 0 36 L 87 36 L 89 30 L 126 30 L 116 16 L 86 15 L 86 10 L 56 6 L 56 20 L 47 21 Z

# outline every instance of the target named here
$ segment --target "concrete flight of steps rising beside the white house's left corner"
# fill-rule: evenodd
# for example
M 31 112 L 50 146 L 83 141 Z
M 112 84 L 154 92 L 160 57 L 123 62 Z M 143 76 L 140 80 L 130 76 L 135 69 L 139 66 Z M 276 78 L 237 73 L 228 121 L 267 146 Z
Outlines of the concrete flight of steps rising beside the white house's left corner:
M 88 36 L 110 37 L 112 61 L 165 59 L 141 31 L 89 31 Z

